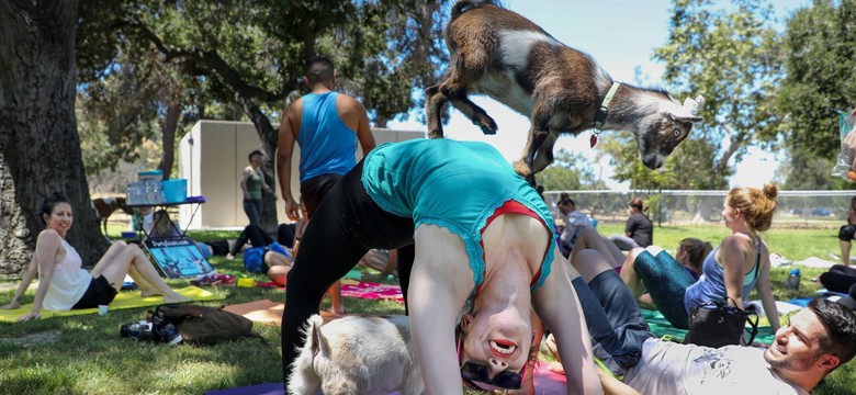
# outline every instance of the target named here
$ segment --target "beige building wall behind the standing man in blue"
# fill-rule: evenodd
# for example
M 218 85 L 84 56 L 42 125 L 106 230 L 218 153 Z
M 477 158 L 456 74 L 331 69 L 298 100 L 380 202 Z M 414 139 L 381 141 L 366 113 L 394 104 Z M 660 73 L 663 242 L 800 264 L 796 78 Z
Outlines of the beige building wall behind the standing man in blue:
M 274 125 L 277 127 L 277 125 Z M 424 132 L 372 128 L 378 145 L 424 138 Z M 189 196 L 205 196 L 205 204 L 179 206 L 179 222 L 189 229 L 243 228 L 249 222 L 244 214 L 240 174 L 249 165 L 247 155 L 261 148 L 261 140 L 249 122 L 200 121 L 179 142 L 179 174 L 188 179 Z M 357 144 L 357 160 L 362 150 Z M 274 161 L 275 157 L 270 158 Z M 292 193 L 300 194 L 300 146 L 294 146 Z M 289 222 L 279 181 L 274 176 L 278 223 Z M 195 214 L 193 211 L 196 211 Z

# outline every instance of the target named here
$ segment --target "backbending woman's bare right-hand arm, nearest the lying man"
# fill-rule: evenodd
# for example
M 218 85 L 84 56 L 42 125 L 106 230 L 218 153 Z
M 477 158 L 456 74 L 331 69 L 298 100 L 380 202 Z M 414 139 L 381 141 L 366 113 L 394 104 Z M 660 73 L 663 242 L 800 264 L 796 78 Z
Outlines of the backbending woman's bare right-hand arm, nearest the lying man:
M 552 330 L 567 377 L 568 394 L 602 394 L 592 354 L 592 340 L 570 275 L 570 264 L 554 251 L 551 273 L 532 293 L 532 306 Z

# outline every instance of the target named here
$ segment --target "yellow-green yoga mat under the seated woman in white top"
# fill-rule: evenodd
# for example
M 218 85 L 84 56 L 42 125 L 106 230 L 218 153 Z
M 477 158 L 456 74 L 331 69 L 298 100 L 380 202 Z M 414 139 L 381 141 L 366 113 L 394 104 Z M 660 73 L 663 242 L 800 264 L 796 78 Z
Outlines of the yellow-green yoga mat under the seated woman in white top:
M 221 301 L 226 298 L 226 296 L 217 295 L 214 293 L 211 293 L 209 291 L 205 291 L 201 287 L 196 287 L 193 285 L 185 286 L 183 289 L 176 290 L 177 293 L 184 295 L 187 297 L 192 298 L 193 301 Z M 123 309 L 123 308 L 134 308 L 134 307 L 145 307 L 145 306 L 157 306 L 159 304 L 164 304 L 164 297 L 161 296 L 149 296 L 149 297 L 139 297 L 139 291 L 129 291 L 129 292 L 120 292 L 116 294 L 116 297 L 113 300 L 113 302 L 110 304 L 110 309 Z M 16 309 L 8 311 L 8 309 L 0 309 L 0 321 L 14 321 L 18 317 L 30 313 L 33 309 L 32 304 L 23 305 Z M 66 312 L 48 312 L 46 309 L 42 309 L 42 318 L 48 318 L 48 317 L 57 317 L 57 316 L 71 316 L 71 315 L 82 315 L 82 314 L 94 314 L 98 313 L 98 307 L 95 308 L 79 308 L 79 309 L 71 309 Z M 109 314 L 109 313 L 108 313 Z

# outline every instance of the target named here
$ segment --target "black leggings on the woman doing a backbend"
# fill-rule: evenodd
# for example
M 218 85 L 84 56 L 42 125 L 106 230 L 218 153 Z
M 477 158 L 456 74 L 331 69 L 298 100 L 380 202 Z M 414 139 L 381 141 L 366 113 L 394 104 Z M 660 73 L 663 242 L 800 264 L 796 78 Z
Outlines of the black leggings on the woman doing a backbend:
M 301 239 L 301 249 L 288 275 L 282 316 L 282 366 L 285 386 L 295 347 L 303 346 L 301 327 L 318 314 L 324 293 L 372 248 L 398 249 L 398 279 L 407 302 L 415 248 L 413 218 L 383 211 L 360 181 L 362 161 L 336 183 L 322 201 Z

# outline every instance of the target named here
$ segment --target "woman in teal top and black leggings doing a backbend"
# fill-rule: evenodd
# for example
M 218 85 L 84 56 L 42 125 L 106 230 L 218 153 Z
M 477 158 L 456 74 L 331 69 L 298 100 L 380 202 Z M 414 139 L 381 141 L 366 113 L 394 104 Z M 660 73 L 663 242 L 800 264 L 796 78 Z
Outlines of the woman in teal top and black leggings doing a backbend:
M 571 284 L 579 274 L 557 252 L 552 229 L 543 200 L 487 144 L 420 139 L 376 147 L 318 207 L 289 272 L 286 381 L 303 343 L 300 328 L 318 313 L 324 292 L 369 249 L 383 248 L 398 250 L 428 392 L 461 394 L 462 380 L 486 390 L 519 387 L 534 307 L 560 345 L 568 393 L 598 393 Z

